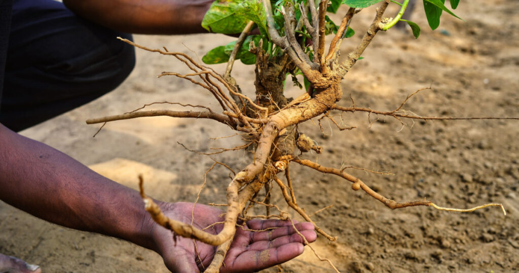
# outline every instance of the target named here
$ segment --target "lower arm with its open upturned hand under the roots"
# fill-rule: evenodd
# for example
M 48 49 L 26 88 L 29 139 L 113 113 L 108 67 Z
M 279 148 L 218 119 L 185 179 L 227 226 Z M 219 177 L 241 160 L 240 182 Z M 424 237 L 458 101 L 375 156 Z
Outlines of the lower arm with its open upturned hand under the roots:
M 0 124 L 0 199 L 54 224 L 120 238 L 159 253 L 173 272 L 201 270 L 194 241 L 179 238 L 157 225 L 144 210 L 139 192 L 107 179 L 68 155 L 26 138 Z M 169 217 L 191 223 L 192 203 L 157 203 Z M 222 211 L 197 204 L 194 225 L 205 228 L 222 221 Z M 252 272 L 288 261 L 303 253 L 302 239 L 292 223 L 253 220 L 238 228 L 225 259 L 224 272 Z M 296 224 L 310 242 L 317 235 L 310 223 Z M 208 232 L 217 233 L 221 225 Z M 205 267 L 215 247 L 197 242 Z M 269 258 L 257 260 L 268 251 Z M 264 253 L 264 252 L 263 252 Z M 264 255 L 265 256 L 265 255 Z

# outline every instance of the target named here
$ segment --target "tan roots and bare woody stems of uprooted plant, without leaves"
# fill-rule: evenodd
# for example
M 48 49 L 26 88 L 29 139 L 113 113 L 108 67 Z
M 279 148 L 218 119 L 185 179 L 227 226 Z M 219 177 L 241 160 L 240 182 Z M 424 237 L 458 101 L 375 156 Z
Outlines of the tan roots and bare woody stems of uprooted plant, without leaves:
M 305 220 L 315 225 L 316 231 L 327 239 L 334 241 L 337 237 L 329 235 L 320 228 L 313 220 L 311 215 L 299 206 L 296 200 L 295 189 L 290 176 L 290 164 L 300 164 L 313 170 L 325 174 L 339 176 L 352 183 L 353 190 L 362 189 L 367 194 L 380 201 L 391 209 L 400 209 L 408 206 L 432 206 L 439 210 L 455 210 L 443 208 L 435 205 L 428 200 L 416 200 L 408 202 L 396 202 L 390 200 L 383 195 L 375 192 L 368 187 L 361 179 L 354 177 L 347 172 L 346 168 L 334 168 L 321 166 L 316 162 L 304 159 L 304 153 L 315 151 L 322 152 L 322 148 L 317 146 L 315 141 L 307 137 L 304 133 L 299 132 L 298 124 L 309 119 L 318 118 L 319 124 L 322 119 L 327 118 L 339 130 L 353 129 L 354 127 L 343 126 L 342 122 L 334 120 L 331 112 L 353 113 L 367 112 L 370 115 L 391 116 L 403 123 L 402 119 L 420 119 L 420 120 L 452 120 L 452 119 L 475 119 L 475 118 L 440 118 L 419 116 L 411 112 L 403 110 L 407 100 L 420 90 L 409 95 L 402 104 L 392 111 L 376 111 L 370 108 L 362 108 L 355 106 L 354 100 L 351 107 L 337 105 L 336 102 L 342 98 L 343 92 L 340 87 L 340 81 L 345 74 L 353 67 L 359 59 L 364 49 L 371 43 L 378 31 L 384 27 L 384 12 L 389 1 L 380 4 L 376 11 L 376 16 L 370 27 L 368 27 L 362 41 L 356 48 L 347 55 L 343 62 L 339 62 L 338 56 L 340 43 L 343 41 L 344 32 L 348 29 L 348 25 L 354 15 L 360 10 L 349 9 L 342 23 L 339 26 L 337 34 L 325 54 L 325 10 L 327 1 L 321 1 L 319 9 L 313 1 L 308 1 L 308 7 L 294 7 L 288 2 L 284 6 L 283 16 L 285 19 L 284 35 L 280 36 L 274 27 L 274 19 L 270 7 L 270 1 L 264 0 L 264 8 L 267 11 L 267 27 L 269 36 L 275 46 L 281 48 L 285 55 L 282 58 L 269 58 L 269 54 L 262 49 L 262 43 L 259 45 L 251 44 L 250 51 L 256 54 L 256 98 L 249 98 L 241 93 L 239 86 L 234 79 L 230 77 L 232 62 L 235 56 L 231 56 L 227 71 L 224 76 L 216 73 L 213 69 L 197 63 L 195 60 L 183 53 L 170 52 L 166 48 L 150 49 L 141 45 L 134 44 L 131 41 L 121 39 L 135 47 L 148 51 L 154 51 L 163 55 L 173 56 L 177 60 L 185 64 L 192 72 L 187 74 L 179 74 L 175 72 L 162 72 L 160 76 L 172 75 L 185 79 L 196 84 L 203 89 L 208 90 L 220 109 L 213 110 L 206 106 L 200 105 L 182 105 L 184 107 L 192 107 L 198 110 L 186 111 L 170 111 L 170 110 L 154 110 L 146 111 L 143 108 L 128 113 L 106 116 L 104 118 L 88 120 L 88 124 L 105 123 L 116 120 L 133 119 L 144 116 L 171 116 L 174 118 L 195 118 L 195 119 L 211 119 L 229 126 L 243 136 L 245 145 L 222 149 L 219 152 L 228 150 L 240 150 L 255 147 L 252 162 L 245 166 L 240 172 L 236 173 L 230 181 L 226 189 L 227 203 L 222 204 L 227 208 L 223 229 L 217 235 L 212 235 L 204 230 L 197 229 L 192 225 L 181 223 L 166 217 L 160 211 L 157 204 L 151 198 L 144 194 L 141 179 L 141 194 L 145 202 L 146 210 L 152 215 L 153 219 L 160 225 L 171 229 L 177 236 L 194 238 L 201 242 L 217 246 L 216 255 L 206 272 L 217 272 L 224 261 L 227 249 L 236 232 L 236 224 L 238 219 L 251 219 L 253 217 L 264 218 L 281 218 L 288 219 L 288 213 L 279 209 L 276 204 L 271 204 L 269 200 L 270 191 L 274 190 L 272 185 L 277 185 L 283 195 L 286 203 Z M 307 10 L 310 12 L 310 19 L 302 16 L 303 24 L 311 35 L 313 57 L 305 53 L 302 45 L 297 41 L 295 36 L 295 9 L 299 8 L 306 15 Z M 244 30 L 240 35 L 236 47 L 240 47 L 250 30 L 252 24 Z M 237 50 L 233 51 L 235 55 Z M 276 64 L 276 66 L 274 66 Z M 290 99 L 283 95 L 282 87 L 279 88 L 279 75 L 285 75 L 286 70 L 290 67 L 297 67 L 310 81 L 313 92 L 304 92 L 301 96 Z M 479 118 L 481 119 L 481 118 Z M 493 118 L 484 118 L 493 119 Z M 322 131 L 322 126 L 321 126 Z M 297 151 L 299 153 L 297 153 Z M 223 164 L 216 162 L 215 164 Z M 214 165 L 213 165 L 214 166 Z M 279 176 L 284 176 L 283 181 Z M 286 184 L 285 184 L 286 183 Z M 264 200 L 257 200 L 258 192 L 265 189 Z M 262 216 L 250 216 L 247 214 L 253 205 L 265 206 L 266 214 Z M 486 204 L 475 207 L 470 210 L 455 211 L 472 211 L 486 206 L 501 206 L 501 204 Z M 274 213 L 273 213 L 274 211 Z M 504 209 L 503 209 L 504 212 Z M 317 212 L 316 212 L 317 213 Z M 322 259 L 324 260 L 324 259 Z

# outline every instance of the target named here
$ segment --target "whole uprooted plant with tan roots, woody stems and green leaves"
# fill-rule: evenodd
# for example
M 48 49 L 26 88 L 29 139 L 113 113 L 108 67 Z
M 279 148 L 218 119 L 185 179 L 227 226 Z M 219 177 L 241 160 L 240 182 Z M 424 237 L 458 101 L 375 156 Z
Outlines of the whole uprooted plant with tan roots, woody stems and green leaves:
M 216 235 L 166 217 L 160 211 L 158 205 L 145 196 L 141 177 L 141 194 L 145 202 L 145 208 L 157 223 L 171 229 L 177 236 L 195 238 L 201 242 L 217 246 L 216 254 L 206 272 L 217 272 L 221 268 L 227 249 L 235 235 L 239 219 L 247 220 L 255 217 L 289 219 L 288 213 L 281 211 L 279 206 L 270 203 L 269 196 L 272 185 L 279 186 L 284 200 L 292 209 L 308 222 L 315 224 L 297 204 L 289 172 L 289 166 L 292 163 L 307 166 L 321 173 L 342 177 L 352 183 L 353 190 L 362 189 L 391 209 L 408 206 L 432 206 L 439 210 L 469 212 L 487 206 L 501 206 L 503 213 L 506 214 L 501 204 L 485 204 L 473 209 L 459 210 L 440 207 L 427 200 L 396 202 L 375 192 L 361 179 L 345 172 L 344 168 L 325 167 L 304 158 L 306 152 L 313 150 L 322 153 L 323 149 L 301 132 L 299 124 L 312 118 L 318 118 L 319 125 L 321 125 L 321 121 L 327 118 L 341 131 L 353 128 L 335 121 L 332 112 L 367 112 L 374 115 L 391 116 L 402 123 L 402 119 L 498 119 L 441 118 L 419 116 L 404 111 L 403 107 L 407 100 L 422 89 L 407 96 L 401 105 L 392 111 L 377 111 L 358 107 L 353 99 L 350 107 L 337 105 L 337 102 L 343 97 L 341 81 L 354 64 L 362 58 L 362 53 L 379 31 L 387 31 L 395 23 L 405 21 L 411 27 L 413 35 L 418 38 L 420 34 L 419 26 L 414 22 L 401 19 L 409 0 L 401 2 L 388 0 L 217 0 L 204 17 L 202 26 L 210 32 L 241 33 L 237 41 L 218 46 L 202 58 L 203 62 L 207 64 L 227 62 L 227 68 L 223 75 L 197 63 L 186 54 L 170 52 L 166 48 L 149 49 L 127 40 L 125 42 L 145 50 L 174 56 L 183 62 L 192 70 L 192 73 L 163 72 L 160 76 L 177 76 L 207 89 L 214 96 L 221 109 L 213 110 L 206 106 L 192 105 L 182 106 L 197 107 L 202 110 L 144 111 L 140 108 L 121 115 L 88 120 L 87 123 L 105 123 L 143 116 L 165 115 L 175 118 L 212 119 L 227 125 L 242 135 L 244 145 L 226 150 L 248 149 L 253 151 L 253 157 L 249 165 L 235 174 L 226 189 L 227 211 L 225 221 L 222 231 Z M 432 29 L 438 27 L 443 11 L 457 17 L 444 5 L 444 2 L 445 0 L 423 1 L 426 16 Z M 456 9 L 458 3 L 459 0 L 450 0 L 450 7 Z M 343 4 L 349 8 L 342 21 L 335 24 L 326 14 L 327 12 L 335 13 Z M 344 61 L 339 61 L 341 43 L 345 38 L 354 34 L 354 31 L 349 28 L 350 22 L 363 8 L 375 4 L 378 5 L 375 18 L 367 27 L 361 42 L 346 55 Z M 400 11 L 394 18 L 384 17 L 388 5 L 400 6 Z M 254 32 L 258 34 L 250 35 L 251 30 L 254 29 L 257 29 Z M 328 46 L 325 43 L 327 34 L 334 34 Z M 231 77 L 233 63 L 237 59 L 245 64 L 255 65 L 255 98 L 242 94 L 239 85 Z M 303 75 L 303 84 L 297 81 L 296 75 Z M 284 96 L 284 82 L 288 76 L 291 76 L 294 84 L 303 89 L 299 97 L 287 98 Z M 181 105 L 180 103 L 176 104 Z M 283 174 L 283 179 L 279 177 L 280 174 Z M 265 189 L 266 197 L 264 200 L 257 200 L 258 192 L 261 189 Z M 265 206 L 266 215 L 248 215 L 248 210 L 253 205 Z M 279 213 L 271 214 L 272 208 L 277 209 Z M 318 225 L 315 225 L 315 227 L 316 231 L 327 239 L 336 240 L 336 237 L 327 234 Z

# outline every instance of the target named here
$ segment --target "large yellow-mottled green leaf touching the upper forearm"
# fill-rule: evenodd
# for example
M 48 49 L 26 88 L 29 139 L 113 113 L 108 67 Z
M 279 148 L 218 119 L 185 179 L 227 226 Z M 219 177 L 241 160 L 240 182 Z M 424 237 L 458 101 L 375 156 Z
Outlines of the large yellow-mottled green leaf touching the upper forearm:
M 218 0 L 213 2 L 202 19 L 202 27 L 209 32 L 240 33 L 249 22 L 249 19 L 236 14 L 236 8 L 241 2 L 238 0 Z

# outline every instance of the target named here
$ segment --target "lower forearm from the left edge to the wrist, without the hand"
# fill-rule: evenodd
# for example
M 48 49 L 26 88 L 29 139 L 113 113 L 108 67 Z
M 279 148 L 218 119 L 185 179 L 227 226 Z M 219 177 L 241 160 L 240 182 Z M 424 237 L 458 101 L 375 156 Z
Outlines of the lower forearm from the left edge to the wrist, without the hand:
M 49 222 L 156 250 L 135 190 L 0 124 L 0 199 Z

